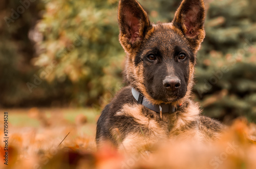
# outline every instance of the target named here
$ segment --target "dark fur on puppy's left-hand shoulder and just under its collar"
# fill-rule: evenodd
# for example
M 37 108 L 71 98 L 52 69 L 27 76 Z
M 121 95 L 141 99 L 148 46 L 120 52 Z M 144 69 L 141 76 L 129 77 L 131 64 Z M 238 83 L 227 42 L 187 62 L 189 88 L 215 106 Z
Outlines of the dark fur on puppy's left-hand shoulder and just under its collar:
M 124 104 L 137 105 L 137 100 L 132 95 L 132 88 L 130 86 L 123 88 L 119 91 L 113 98 L 110 104 L 106 105 L 101 112 L 101 116 L 97 122 L 96 129 L 96 142 L 97 144 L 101 140 L 109 140 L 113 145 L 118 146 L 120 142 L 125 138 L 128 133 L 131 132 L 143 132 L 145 135 L 149 132 L 148 128 L 141 126 L 136 123 L 134 118 L 127 116 L 115 116 L 116 112 L 120 111 Z M 159 125 L 167 128 L 170 126 L 166 125 L 160 120 L 159 114 L 146 107 L 143 108 L 143 115 L 155 119 Z M 132 127 L 130 127 L 132 126 Z M 116 139 L 117 136 L 113 136 L 110 131 L 112 129 L 118 128 L 120 138 Z M 166 133 L 167 134 L 167 133 Z

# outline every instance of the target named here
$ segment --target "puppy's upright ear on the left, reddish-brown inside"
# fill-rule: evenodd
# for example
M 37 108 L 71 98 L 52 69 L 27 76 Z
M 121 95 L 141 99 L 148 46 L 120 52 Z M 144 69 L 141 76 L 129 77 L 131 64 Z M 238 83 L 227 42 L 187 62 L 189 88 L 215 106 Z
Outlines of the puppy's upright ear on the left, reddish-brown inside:
M 136 0 L 120 0 L 118 6 L 119 40 L 126 52 L 138 47 L 151 23 Z

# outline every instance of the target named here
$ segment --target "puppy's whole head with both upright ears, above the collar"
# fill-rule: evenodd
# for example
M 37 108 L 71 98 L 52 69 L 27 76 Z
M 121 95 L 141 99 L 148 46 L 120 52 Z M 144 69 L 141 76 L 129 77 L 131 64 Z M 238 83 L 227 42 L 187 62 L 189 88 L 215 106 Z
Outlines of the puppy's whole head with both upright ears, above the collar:
M 119 40 L 127 54 L 126 81 L 153 104 L 182 102 L 193 85 L 204 17 L 203 0 L 183 0 L 172 22 L 152 24 L 136 0 L 121 0 Z

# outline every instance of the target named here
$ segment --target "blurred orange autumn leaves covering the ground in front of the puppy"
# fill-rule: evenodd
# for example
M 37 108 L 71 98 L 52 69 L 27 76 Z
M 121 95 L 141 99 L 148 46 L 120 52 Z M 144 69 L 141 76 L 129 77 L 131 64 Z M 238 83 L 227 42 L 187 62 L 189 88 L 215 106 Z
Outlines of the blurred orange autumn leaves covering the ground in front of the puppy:
M 26 123 L 36 120 L 40 124 L 37 127 L 15 125 L 10 119 L 8 168 L 256 168 L 256 126 L 246 120 L 233 122 L 214 143 L 174 139 L 140 156 L 118 152 L 109 144 L 97 151 L 96 115 L 91 119 L 93 113 L 89 109 L 82 110 L 86 116 L 74 114 L 78 110 L 70 109 L 69 116 L 76 120 L 69 121 L 64 116 L 66 111 L 31 108 L 19 113 L 29 116 Z M 91 120 L 84 122 L 84 118 Z M 0 121 L 0 126 L 3 123 Z M 3 135 L 1 127 L 0 136 Z M 4 153 L 2 142 L 2 158 Z M 5 168 L 5 164 L 0 163 L 0 167 Z

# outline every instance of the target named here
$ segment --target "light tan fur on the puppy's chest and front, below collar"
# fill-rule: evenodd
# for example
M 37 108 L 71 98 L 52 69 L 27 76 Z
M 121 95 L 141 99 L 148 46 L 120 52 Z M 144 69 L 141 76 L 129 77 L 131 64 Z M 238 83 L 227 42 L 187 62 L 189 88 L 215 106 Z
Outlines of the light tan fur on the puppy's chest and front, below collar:
M 118 149 L 126 152 L 152 150 L 157 143 L 172 141 L 174 139 L 188 139 L 199 142 L 209 142 L 217 139 L 222 131 L 222 124 L 207 117 L 200 116 L 198 104 L 188 102 L 187 107 L 172 115 L 159 115 L 151 111 L 145 112 L 142 105 L 123 105 L 123 109 L 115 116 L 129 116 L 141 128 L 147 128 L 150 133 L 142 130 L 127 133 L 125 139 L 120 140 Z M 133 127 L 133 126 L 126 126 Z M 115 133 L 118 135 L 118 133 Z

